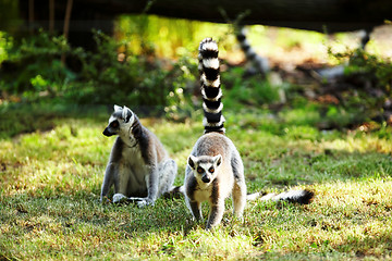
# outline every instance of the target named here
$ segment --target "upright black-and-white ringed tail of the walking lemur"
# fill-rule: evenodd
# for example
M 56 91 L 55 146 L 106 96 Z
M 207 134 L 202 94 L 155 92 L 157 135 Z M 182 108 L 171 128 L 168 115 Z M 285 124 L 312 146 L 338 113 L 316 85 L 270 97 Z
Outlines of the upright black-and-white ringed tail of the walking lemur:
M 203 96 L 203 110 L 205 119 L 203 125 L 205 133 L 217 132 L 224 134 L 223 103 L 220 88 L 220 73 L 218 59 L 218 45 L 212 38 L 200 42 L 198 53 Z

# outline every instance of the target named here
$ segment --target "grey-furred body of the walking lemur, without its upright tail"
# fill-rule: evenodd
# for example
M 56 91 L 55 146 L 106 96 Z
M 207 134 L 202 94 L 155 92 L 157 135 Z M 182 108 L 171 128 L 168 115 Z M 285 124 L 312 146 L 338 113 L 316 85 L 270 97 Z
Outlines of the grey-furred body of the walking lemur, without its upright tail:
M 221 163 L 215 159 L 221 157 Z M 213 175 L 206 170 L 200 174 L 198 166 L 215 167 Z M 208 166 L 208 167 L 207 167 Z M 204 176 L 209 176 L 206 183 Z M 234 144 L 226 136 L 218 133 L 203 135 L 196 142 L 185 171 L 185 200 L 196 220 L 203 220 L 201 202 L 210 206 L 206 228 L 218 225 L 224 212 L 224 200 L 232 195 L 233 213 L 241 219 L 246 202 L 244 165 Z

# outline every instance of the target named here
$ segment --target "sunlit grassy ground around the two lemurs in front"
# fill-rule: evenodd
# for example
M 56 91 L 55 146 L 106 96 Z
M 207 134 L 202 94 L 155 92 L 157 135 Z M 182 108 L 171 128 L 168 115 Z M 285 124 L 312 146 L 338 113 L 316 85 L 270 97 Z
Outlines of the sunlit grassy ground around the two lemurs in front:
M 308 188 L 316 198 L 308 206 L 248 202 L 243 222 L 228 200 L 222 224 L 205 232 L 183 199 L 145 209 L 101 204 L 114 140 L 101 135 L 109 114 L 54 115 L 41 130 L 1 136 L 0 260 L 392 259 L 390 128 L 320 132 L 311 122 L 319 115 L 307 109 L 225 110 L 250 192 Z M 179 163 L 181 185 L 200 119 L 143 123 Z

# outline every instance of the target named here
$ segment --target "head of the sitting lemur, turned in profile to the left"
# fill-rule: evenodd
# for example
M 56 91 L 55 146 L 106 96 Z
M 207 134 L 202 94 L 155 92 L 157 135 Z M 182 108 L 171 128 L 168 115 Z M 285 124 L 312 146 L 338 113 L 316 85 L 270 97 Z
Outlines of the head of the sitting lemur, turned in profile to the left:
M 109 119 L 109 124 L 103 130 L 105 136 L 119 135 L 121 132 L 128 133 L 135 120 L 134 113 L 124 105 L 114 105 L 114 112 Z

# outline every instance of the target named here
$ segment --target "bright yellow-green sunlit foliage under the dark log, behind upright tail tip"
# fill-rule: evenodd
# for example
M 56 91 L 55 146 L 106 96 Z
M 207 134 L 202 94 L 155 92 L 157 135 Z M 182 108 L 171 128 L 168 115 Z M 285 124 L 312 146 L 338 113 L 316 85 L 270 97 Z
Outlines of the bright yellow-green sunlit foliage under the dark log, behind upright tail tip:
M 231 26 L 197 21 L 167 18 L 157 15 L 122 15 L 117 22 L 117 38 L 125 40 L 135 54 L 155 53 L 159 58 L 177 59 L 194 53 L 206 37 L 226 40 Z M 231 42 L 235 42 L 232 36 Z M 224 52 L 220 40 L 220 51 Z

